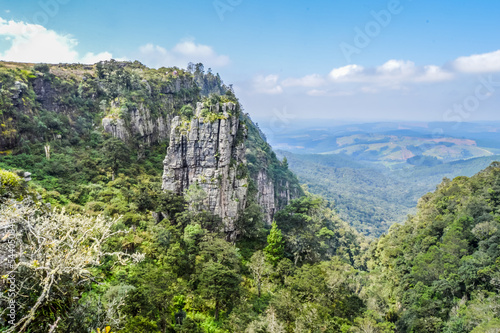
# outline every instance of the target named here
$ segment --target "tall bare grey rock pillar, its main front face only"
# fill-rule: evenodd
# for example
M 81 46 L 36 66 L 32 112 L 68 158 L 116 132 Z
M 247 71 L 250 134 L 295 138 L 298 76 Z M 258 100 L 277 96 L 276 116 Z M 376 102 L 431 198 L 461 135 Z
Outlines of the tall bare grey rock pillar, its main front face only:
M 175 117 L 163 174 L 163 189 L 179 194 L 199 184 L 207 194 L 205 207 L 222 218 L 228 233 L 236 231 L 248 192 L 247 178 L 237 175 L 238 164 L 245 163 L 245 147 L 236 142 L 240 129 L 236 108 L 233 103 L 216 105 L 215 112 L 223 119 L 214 122 L 201 117 L 201 103 L 189 123 Z

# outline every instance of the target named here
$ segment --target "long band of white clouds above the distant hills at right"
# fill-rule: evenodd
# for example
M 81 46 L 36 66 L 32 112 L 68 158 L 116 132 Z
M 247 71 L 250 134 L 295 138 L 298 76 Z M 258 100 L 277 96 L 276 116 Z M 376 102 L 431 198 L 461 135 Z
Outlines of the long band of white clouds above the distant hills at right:
M 303 90 L 309 96 L 350 96 L 355 92 L 410 91 L 415 85 L 454 81 L 464 74 L 495 72 L 500 72 L 500 50 L 460 57 L 443 66 L 418 66 L 410 60 L 391 59 L 375 67 L 358 64 L 337 67 L 326 75 L 310 74 L 283 80 L 274 74 L 261 75 L 254 79 L 254 86 L 255 91 L 263 94 L 278 94 L 293 88 L 296 93 L 298 88 L 309 88 Z

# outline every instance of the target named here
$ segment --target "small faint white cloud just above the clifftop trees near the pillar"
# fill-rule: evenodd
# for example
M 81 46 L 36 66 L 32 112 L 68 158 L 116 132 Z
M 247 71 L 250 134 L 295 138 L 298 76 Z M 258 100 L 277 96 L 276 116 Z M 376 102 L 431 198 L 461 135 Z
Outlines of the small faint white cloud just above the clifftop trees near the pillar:
M 185 67 L 189 62 L 203 63 L 206 67 L 223 67 L 229 64 L 228 56 L 217 54 L 211 46 L 183 41 L 167 50 L 158 45 L 146 44 L 139 49 L 140 60 L 151 67 Z

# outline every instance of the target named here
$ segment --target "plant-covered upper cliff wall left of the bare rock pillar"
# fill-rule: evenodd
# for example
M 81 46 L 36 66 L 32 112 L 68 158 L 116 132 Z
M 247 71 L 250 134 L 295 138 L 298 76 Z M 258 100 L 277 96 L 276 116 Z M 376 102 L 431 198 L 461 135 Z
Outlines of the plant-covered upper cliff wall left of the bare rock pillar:
M 204 75 L 113 60 L 94 66 L 0 63 L 0 151 L 29 153 L 28 143 L 93 143 L 103 118 L 112 126 L 124 124 L 120 137 L 135 148 L 158 143 L 158 130 L 145 133 L 138 115 L 165 122 L 175 115 L 189 117 L 187 110 L 202 99 L 195 81 Z M 234 96 L 220 80 L 212 85 Z

